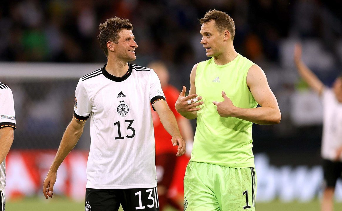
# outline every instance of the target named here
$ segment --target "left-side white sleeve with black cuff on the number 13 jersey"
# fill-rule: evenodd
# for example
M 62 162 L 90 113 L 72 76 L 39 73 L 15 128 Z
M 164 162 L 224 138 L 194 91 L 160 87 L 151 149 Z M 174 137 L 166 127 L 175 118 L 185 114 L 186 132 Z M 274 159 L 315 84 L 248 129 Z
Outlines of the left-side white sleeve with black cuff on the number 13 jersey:
M 91 113 L 91 102 L 83 81 L 78 81 L 75 91 L 74 117 L 78 121 L 88 119 Z

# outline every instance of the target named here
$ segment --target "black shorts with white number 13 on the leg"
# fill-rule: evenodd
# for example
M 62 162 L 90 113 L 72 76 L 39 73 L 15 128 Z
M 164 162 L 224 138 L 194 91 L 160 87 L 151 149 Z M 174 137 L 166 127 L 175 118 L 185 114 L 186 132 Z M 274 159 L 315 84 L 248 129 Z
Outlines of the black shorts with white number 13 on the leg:
M 86 211 L 159 211 L 157 187 L 133 189 L 86 189 Z

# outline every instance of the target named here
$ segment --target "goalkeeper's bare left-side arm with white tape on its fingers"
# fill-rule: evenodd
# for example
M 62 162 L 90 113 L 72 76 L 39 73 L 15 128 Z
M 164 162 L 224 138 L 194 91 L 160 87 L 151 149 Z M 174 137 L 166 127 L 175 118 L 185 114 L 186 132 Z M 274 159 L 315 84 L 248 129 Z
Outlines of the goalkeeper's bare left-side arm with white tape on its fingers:
M 176 101 L 175 109 L 178 113 L 180 113 L 182 116 L 184 116 L 187 119 L 194 119 L 197 118 L 197 111 L 199 111 L 201 108 L 196 108 L 198 105 L 203 104 L 203 102 L 194 103 L 191 105 L 188 105 L 187 101 L 190 99 L 194 99 L 197 97 L 196 94 L 196 87 L 195 87 L 195 78 L 196 78 L 196 69 L 197 69 L 198 63 L 193 67 L 190 73 L 190 90 L 189 95 L 185 97 L 185 91 L 186 87 L 183 86 L 183 90 L 181 94 L 179 95 L 179 98 Z M 202 97 L 198 97 L 198 100 L 201 100 Z M 194 102 L 193 100 L 191 102 Z

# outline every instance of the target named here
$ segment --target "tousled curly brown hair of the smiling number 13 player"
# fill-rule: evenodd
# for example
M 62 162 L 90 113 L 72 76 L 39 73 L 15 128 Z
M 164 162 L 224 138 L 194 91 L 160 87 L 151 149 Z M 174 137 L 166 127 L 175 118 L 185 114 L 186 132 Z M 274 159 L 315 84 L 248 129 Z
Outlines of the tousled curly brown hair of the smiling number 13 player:
M 133 26 L 128 19 L 114 17 L 105 20 L 104 23 L 98 26 L 98 29 L 100 30 L 100 34 L 98 35 L 100 46 L 108 57 L 107 42 L 111 41 L 118 44 L 120 38 L 119 33 L 122 29 L 133 30 Z

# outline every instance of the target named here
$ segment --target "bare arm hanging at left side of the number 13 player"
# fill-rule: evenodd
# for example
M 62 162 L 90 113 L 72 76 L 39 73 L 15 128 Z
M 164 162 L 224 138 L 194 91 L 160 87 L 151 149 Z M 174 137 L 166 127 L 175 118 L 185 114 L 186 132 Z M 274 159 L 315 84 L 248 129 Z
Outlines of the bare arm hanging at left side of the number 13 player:
M 85 123 L 86 121 L 77 121 L 75 118 L 73 118 L 67 126 L 60 146 L 58 147 L 57 154 L 53 159 L 48 175 L 44 180 L 43 193 L 45 198 L 48 198 L 48 196 L 52 198 L 53 185 L 55 184 L 57 178 L 57 169 L 60 167 L 69 152 L 75 147 L 78 139 L 82 135 Z

